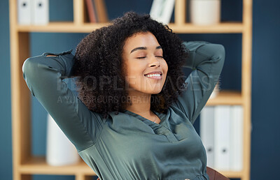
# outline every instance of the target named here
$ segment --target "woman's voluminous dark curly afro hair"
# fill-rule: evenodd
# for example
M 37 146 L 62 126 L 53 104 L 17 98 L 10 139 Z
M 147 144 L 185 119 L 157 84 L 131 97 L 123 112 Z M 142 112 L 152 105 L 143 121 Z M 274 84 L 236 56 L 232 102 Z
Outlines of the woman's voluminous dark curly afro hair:
M 131 105 L 125 90 L 123 47 L 135 33 L 151 32 L 162 47 L 168 65 L 167 79 L 158 94 L 152 94 L 151 110 L 166 113 L 181 91 L 186 89 L 181 67 L 188 57 L 183 41 L 167 25 L 150 15 L 128 12 L 85 36 L 76 47 L 73 75 L 78 76 L 78 97 L 92 112 L 107 117 L 108 112 L 121 112 Z M 173 82 L 176 82 L 174 85 Z

